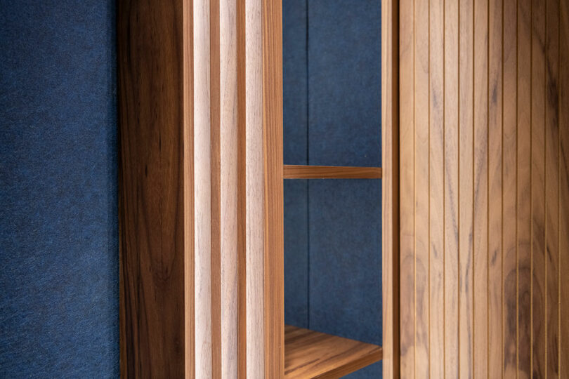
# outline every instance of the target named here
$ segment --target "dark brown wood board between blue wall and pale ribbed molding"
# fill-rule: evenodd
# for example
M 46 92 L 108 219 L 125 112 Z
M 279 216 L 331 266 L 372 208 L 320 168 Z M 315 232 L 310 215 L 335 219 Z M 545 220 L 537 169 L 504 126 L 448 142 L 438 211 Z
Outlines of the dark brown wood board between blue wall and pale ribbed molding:
M 184 6 L 117 4 L 124 378 L 185 372 Z

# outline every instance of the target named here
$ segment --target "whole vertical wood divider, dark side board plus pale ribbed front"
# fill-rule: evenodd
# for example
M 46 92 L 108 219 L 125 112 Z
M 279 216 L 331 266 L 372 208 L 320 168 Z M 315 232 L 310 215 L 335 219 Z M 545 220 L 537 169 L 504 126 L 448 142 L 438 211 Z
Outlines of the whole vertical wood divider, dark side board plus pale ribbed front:
M 122 376 L 280 378 L 280 1 L 118 13 Z

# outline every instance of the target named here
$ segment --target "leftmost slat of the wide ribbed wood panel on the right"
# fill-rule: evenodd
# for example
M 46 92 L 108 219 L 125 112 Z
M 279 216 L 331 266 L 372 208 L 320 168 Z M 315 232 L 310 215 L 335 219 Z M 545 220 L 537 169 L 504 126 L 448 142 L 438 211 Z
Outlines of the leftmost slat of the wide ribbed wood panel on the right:
M 414 0 L 400 1 L 400 376 L 415 375 Z M 403 10 L 407 11 L 403 11 Z M 384 37 L 384 36 L 382 36 Z M 382 79 L 384 80 L 384 79 Z M 384 168 L 385 161 L 384 161 Z M 386 168 L 387 169 L 387 168 Z M 385 206 L 385 204 L 384 204 Z M 410 274 L 412 273 L 412 274 Z M 405 278 L 405 279 L 403 279 Z M 385 343 L 384 343 L 385 346 Z M 386 351 L 387 355 L 387 351 Z M 387 376 L 386 376 L 387 377 Z

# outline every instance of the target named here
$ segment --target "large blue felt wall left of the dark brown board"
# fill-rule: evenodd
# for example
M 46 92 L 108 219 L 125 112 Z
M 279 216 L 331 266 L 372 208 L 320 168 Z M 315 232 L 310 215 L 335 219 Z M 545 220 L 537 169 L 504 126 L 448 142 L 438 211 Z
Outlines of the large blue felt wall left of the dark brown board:
M 114 0 L 0 1 L 0 378 L 119 375 Z

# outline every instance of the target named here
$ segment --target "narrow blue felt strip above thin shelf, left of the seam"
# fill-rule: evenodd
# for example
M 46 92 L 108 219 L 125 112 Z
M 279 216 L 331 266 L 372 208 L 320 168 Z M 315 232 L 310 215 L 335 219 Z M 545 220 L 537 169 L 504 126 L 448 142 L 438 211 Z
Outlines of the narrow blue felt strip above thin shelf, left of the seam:
M 306 0 L 282 1 L 284 164 L 307 164 Z

